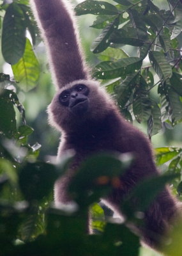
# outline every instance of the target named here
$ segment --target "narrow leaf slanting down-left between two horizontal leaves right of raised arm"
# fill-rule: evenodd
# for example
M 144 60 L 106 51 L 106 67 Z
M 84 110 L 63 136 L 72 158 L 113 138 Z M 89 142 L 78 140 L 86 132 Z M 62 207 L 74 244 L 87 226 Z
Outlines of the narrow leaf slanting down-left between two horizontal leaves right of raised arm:
M 113 22 L 103 29 L 102 33 L 96 38 L 95 42 L 93 42 L 91 47 L 91 51 L 93 51 L 93 53 L 102 52 L 107 49 L 107 47 L 110 45 L 108 38 L 114 29 L 118 28 L 118 24 L 119 17 L 117 17 Z

